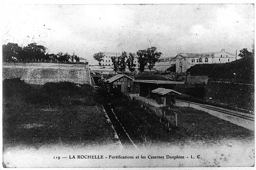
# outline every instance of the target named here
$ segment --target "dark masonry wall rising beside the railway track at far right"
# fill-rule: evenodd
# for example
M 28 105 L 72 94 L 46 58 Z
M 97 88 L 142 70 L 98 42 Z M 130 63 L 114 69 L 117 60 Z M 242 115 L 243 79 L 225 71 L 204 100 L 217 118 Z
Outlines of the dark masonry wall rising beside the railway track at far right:
M 225 81 L 208 80 L 204 102 L 220 107 L 254 110 L 254 85 Z

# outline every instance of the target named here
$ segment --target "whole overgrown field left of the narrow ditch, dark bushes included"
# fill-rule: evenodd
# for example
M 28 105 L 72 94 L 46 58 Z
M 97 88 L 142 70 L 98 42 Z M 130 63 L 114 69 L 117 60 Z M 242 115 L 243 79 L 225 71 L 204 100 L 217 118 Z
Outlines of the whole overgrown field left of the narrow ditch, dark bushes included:
M 80 96 L 78 91 L 77 94 L 64 93 L 65 90 L 46 92 L 44 87 L 34 88 L 20 80 L 5 82 L 3 85 L 4 148 L 39 147 L 44 144 L 94 146 L 115 141 L 114 130 L 101 105 L 87 102 L 89 99 L 93 101 L 89 92 L 81 91 L 87 97 Z M 15 86 L 19 89 L 12 89 Z M 30 93 L 22 92 L 21 86 L 24 92 L 29 89 Z M 7 88 L 12 92 L 6 91 Z M 87 87 L 88 90 L 91 89 Z M 64 94 L 60 95 L 62 93 Z M 47 100 L 35 99 L 42 96 L 47 96 Z

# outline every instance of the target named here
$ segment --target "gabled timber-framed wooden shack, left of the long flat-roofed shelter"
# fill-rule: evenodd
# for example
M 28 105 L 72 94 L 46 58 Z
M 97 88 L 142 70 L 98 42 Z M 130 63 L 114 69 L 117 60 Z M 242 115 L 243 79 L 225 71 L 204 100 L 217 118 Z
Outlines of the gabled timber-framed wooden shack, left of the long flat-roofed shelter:
M 118 91 L 121 91 L 125 94 L 134 94 L 136 93 L 136 85 L 132 81 L 134 77 L 129 77 L 125 74 L 117 74 L 107 80 L 106 82 L 109 82 L 110 85 L 115 88 Z

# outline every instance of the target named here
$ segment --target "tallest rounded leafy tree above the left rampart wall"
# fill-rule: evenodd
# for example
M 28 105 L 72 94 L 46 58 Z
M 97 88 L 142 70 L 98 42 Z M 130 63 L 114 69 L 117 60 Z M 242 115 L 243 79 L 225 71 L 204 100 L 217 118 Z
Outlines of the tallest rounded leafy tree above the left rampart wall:
M 28 44 L 22 49 L 21 59 L 46 59 L 46 48 L 36 43 Z

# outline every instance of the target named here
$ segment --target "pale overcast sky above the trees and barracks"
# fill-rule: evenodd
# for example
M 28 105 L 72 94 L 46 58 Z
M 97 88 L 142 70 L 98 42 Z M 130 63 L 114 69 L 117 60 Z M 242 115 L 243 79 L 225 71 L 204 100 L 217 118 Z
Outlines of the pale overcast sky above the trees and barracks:
M 2 43 L 36 42 L 49 53 L 75 52 L 97 64 L 99 51 L 136 52 L 155 46 L 179 52 L 251 50 L 252 4 L 9 5 L 2 11 Z

